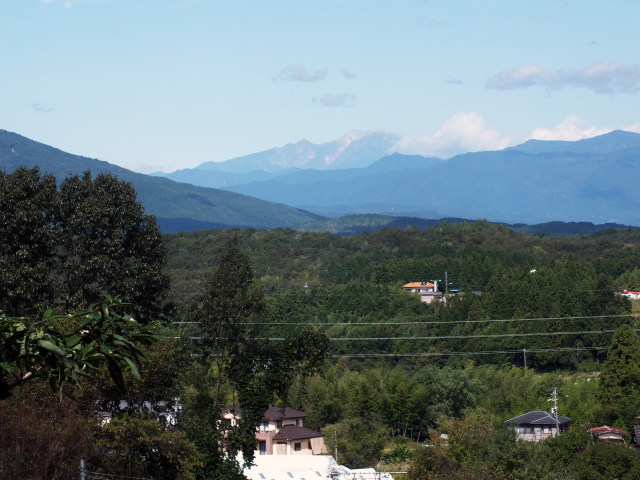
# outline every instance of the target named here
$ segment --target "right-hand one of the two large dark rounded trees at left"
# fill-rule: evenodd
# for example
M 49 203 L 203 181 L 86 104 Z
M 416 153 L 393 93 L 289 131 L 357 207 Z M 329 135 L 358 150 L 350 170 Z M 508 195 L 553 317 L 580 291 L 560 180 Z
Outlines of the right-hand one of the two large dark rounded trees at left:
M 110 175 L 69 177 L 60 186 L 66 309 L 115 292 L 149 319 L 161 312 L 169 282 L 166 250 L 131 184 Z

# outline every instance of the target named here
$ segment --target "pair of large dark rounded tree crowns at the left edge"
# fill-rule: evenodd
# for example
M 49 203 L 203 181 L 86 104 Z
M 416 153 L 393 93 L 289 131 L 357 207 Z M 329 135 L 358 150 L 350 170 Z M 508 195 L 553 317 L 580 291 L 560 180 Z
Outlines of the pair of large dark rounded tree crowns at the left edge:
M 0 173 L 0 207 L 7 315 L 69 312 L 118 294 L 141 321 L 159 317 L 169 287 L 166 249 L 130 184 L 85 173 L 57 190 L 51 175 L 18 168 Z

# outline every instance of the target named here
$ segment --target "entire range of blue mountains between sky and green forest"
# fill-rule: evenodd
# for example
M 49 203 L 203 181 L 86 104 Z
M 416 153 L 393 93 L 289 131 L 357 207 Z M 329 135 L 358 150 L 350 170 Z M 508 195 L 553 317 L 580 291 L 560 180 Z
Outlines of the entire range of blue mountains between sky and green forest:
M 0 130 L 0 168 L 37 165 L 59 179 L 85 170 L 112 173 L 133 183 L 165 232 L 331 230 L 336 222 L 326 217 L 345 215 L 338 229 L 346 233 L 442 218 L 544 224 L 555 231 L 564 227 L 553 222 L 574 222 L 569 230 L 581 233 L 592 224 L 640 226 L 639 134 L 530 140 L 447 160 L 393 153 L 396 142 L 381 132 L 354 132 L 326 144 L 301 141 L 160 178 Z

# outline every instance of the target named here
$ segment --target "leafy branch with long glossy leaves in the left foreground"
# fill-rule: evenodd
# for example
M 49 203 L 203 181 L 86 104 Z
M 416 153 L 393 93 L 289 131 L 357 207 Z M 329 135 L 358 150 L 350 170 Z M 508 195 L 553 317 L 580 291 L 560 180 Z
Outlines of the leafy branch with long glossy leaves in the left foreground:
M 142 325 L 120 313 L 125 305 L 106 296 L 87 310 L 42 318 L 8 317 L 0 313 L 0 399 L 35 378 L 46 378 L 52 389 L 78 386 L 106 363 L 115 384 L 125 388 L 123 371 L 139 377 L 147 359 L 141 345 L 155 342 L 155 324 Z

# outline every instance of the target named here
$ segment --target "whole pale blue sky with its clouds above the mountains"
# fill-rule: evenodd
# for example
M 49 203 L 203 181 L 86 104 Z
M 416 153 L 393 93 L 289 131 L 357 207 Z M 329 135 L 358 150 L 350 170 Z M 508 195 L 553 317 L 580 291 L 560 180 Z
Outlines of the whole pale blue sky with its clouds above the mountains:
M 637 0 L 1 0 L 0 129 L 142 173 L 640 133 Z

